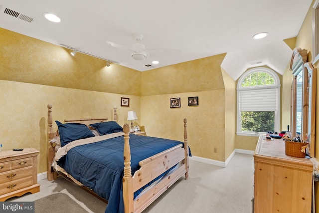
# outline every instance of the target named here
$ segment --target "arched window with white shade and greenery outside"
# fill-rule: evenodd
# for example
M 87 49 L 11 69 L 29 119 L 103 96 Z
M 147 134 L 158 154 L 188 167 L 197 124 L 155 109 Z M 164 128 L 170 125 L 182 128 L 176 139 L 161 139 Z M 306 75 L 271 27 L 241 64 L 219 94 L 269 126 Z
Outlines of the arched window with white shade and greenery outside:
M 246 71 L 237 84 L 237 135 L 278 131 L 280 123 L 280 79 L 271 69 Z

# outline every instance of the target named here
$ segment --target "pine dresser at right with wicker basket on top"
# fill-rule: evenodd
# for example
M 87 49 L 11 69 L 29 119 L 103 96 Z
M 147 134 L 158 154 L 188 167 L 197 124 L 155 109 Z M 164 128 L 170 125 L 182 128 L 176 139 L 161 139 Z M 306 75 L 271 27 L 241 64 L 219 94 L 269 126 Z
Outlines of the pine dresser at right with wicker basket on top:
M 259 137 L 255 160 L 255 213 L 311 213 L 313 164 L 285 154 L 282 139 Z

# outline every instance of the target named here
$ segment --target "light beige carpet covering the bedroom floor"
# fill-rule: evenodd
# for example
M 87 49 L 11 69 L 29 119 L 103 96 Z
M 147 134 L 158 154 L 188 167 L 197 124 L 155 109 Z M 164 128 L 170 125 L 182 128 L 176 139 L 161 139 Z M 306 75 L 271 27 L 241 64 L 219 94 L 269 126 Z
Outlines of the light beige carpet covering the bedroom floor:
M 193 161 L 188 180 L 180 179 L 143 213 L 251 213 L 254 189 L 252 155 L 236 153 L 226 168 Z M 10 201 L 35 201 L 64 193 L 89 213 L 104 213 L 106 204 L 63 178 L 40 180 L 40 192 Z M 55 202 L 52 202 L 55 203 Z M 59 204 L 55 204 L 59 205 Z M 48 209 L 43 213 L 50 213 Z M 72 211 L 73 212 L 73 211 Z

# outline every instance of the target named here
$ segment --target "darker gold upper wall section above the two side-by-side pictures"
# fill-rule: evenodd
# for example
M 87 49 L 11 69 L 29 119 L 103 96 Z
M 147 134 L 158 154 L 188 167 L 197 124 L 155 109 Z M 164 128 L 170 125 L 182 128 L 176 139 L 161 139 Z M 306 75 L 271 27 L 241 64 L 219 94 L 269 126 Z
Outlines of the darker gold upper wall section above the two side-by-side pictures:
M 214 55 L 142 72 L 141 95 L 224 89 L 220 64 L 225 55 Z

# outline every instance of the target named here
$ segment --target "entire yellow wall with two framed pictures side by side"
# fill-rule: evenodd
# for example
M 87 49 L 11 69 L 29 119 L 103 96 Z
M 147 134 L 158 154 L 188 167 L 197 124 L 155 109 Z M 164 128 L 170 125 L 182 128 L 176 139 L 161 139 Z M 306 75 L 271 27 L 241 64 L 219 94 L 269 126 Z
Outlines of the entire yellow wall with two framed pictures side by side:
M 182 119 L 187 118 L 192 154 L 225 161 L 225 89 L 220 67 L 224 56 L 142 72 L 142 123 L 149 136 L 182 140 Z M 187 98 L 193 96 L 198 96 L 198 106 L 188 106 Z M 170 98 L 180 98 L 181 107 L 170 108 Z

